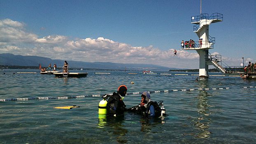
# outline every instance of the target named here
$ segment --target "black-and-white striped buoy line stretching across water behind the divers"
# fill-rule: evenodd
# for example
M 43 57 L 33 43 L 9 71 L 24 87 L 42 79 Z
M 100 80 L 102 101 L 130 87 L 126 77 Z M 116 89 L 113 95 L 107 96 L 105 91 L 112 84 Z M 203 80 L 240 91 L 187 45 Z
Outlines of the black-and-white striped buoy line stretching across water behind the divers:
M 240 88 L 256 88 L 256 86 L 243 86 Z M 177 89 L 177 90 L 159 90 L 159 91 L 148 91 L 149 93 L 168 93 L 175 91 L 209 91 L 209 90 L 223 90 L 230 88 L 189 88 L 189 89 Z M 143 92 L 133 92 L 127 93 L 126 95 L 138 95 Z M 28 101 L 28 100 L 67 100 L 67 99 L 75 99 L 75 98 L 86 98 L 86 97 L 102 97 L 104 95 L 113 95 L 109 94 L 94 94 L 94 95 L 78 95 L 78 96 L 62 96 L 62 97 L 31 97 L 31 98 L 8 98 L 8 99 L 0 99 L 0 102 L 11 102 L 11 101 Z

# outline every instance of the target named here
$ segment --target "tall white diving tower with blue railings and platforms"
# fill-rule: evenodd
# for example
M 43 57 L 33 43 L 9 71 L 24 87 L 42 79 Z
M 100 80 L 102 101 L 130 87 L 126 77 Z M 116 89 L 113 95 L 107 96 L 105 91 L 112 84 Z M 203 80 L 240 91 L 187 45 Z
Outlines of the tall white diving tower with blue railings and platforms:
M 215 44 L 215 37 L 209 35 L 209 25 L 223 21 L 223 14 L 213 13 L 211 16 L 208 14 L 200 14 L 199 16 L 191 16 L 191 23 L 195 24 L 193 32 L 198 35 L 193 47 L 185 47 L 184 50 L 196 50 L 199 54 L 199 77 L 208 77 L 208 65 L 213 65 L 212 60 L 209 58 L 209 49 L 213 49 Z M 201 44 L 198 42 L 201 39 Z M 198 44 L 196 44 L 198 43 Z

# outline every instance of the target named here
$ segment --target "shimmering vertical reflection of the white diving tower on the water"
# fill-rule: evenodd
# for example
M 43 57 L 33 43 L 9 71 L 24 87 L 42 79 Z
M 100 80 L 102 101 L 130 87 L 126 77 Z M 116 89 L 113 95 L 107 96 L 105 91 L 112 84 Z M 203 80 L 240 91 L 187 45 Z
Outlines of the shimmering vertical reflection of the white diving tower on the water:
M 206 91 L 200 91 L 198 94 L 198 118 L 197 121 L 195 121 L 195 126 L 201 130 L 195 137 L 196 138 L 207 138 L 210 136 L 211 132 L 209 131 L 209 124 L 212 123 L 211 119 L 209 117 L 208 113 L 208 108 L 210 105 L 207 104 L 208 102 L 208 97 L 209 95 L 207 94 Z

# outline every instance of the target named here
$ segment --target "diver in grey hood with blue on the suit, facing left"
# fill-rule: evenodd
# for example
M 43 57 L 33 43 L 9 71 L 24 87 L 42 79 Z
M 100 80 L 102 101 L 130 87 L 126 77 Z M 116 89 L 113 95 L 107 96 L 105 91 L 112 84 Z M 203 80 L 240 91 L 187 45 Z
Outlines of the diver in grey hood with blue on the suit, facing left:
M 141 102 L 139 105 L 128 109 L 133 113 L 140 114 L 145 118 L 150 117 L 159 117 L 161 116 L 161 108 L 157 102 L 153 102 L 150 98 L 150 94 L 147 91 L 144 91 L 141 95 Z

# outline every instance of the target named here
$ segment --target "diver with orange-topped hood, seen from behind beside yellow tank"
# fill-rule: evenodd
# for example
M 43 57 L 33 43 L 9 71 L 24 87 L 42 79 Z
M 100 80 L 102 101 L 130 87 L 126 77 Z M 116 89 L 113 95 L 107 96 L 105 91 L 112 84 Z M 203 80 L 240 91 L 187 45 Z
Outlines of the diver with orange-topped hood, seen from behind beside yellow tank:
M 124 111 L 127 111 L 123 98 L 126 95 L 127 87 L 125 85 L 119 86 L 117 93 L 109 96 L 107 101 L 107 115 L 120 116 Z

